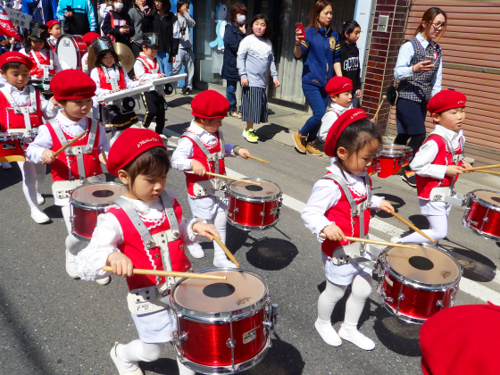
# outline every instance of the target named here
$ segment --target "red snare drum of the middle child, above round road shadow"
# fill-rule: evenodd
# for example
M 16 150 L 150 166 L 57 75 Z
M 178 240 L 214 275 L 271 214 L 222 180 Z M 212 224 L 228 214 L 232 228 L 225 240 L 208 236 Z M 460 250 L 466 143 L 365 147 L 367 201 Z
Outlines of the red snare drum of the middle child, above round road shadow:
M 267 179 L 251 180 L 261 185 L 240 181 L 229 185 L 228 221 L 240 229 L 269 229 L 278 222 L 283 193 L 277 184 Z

